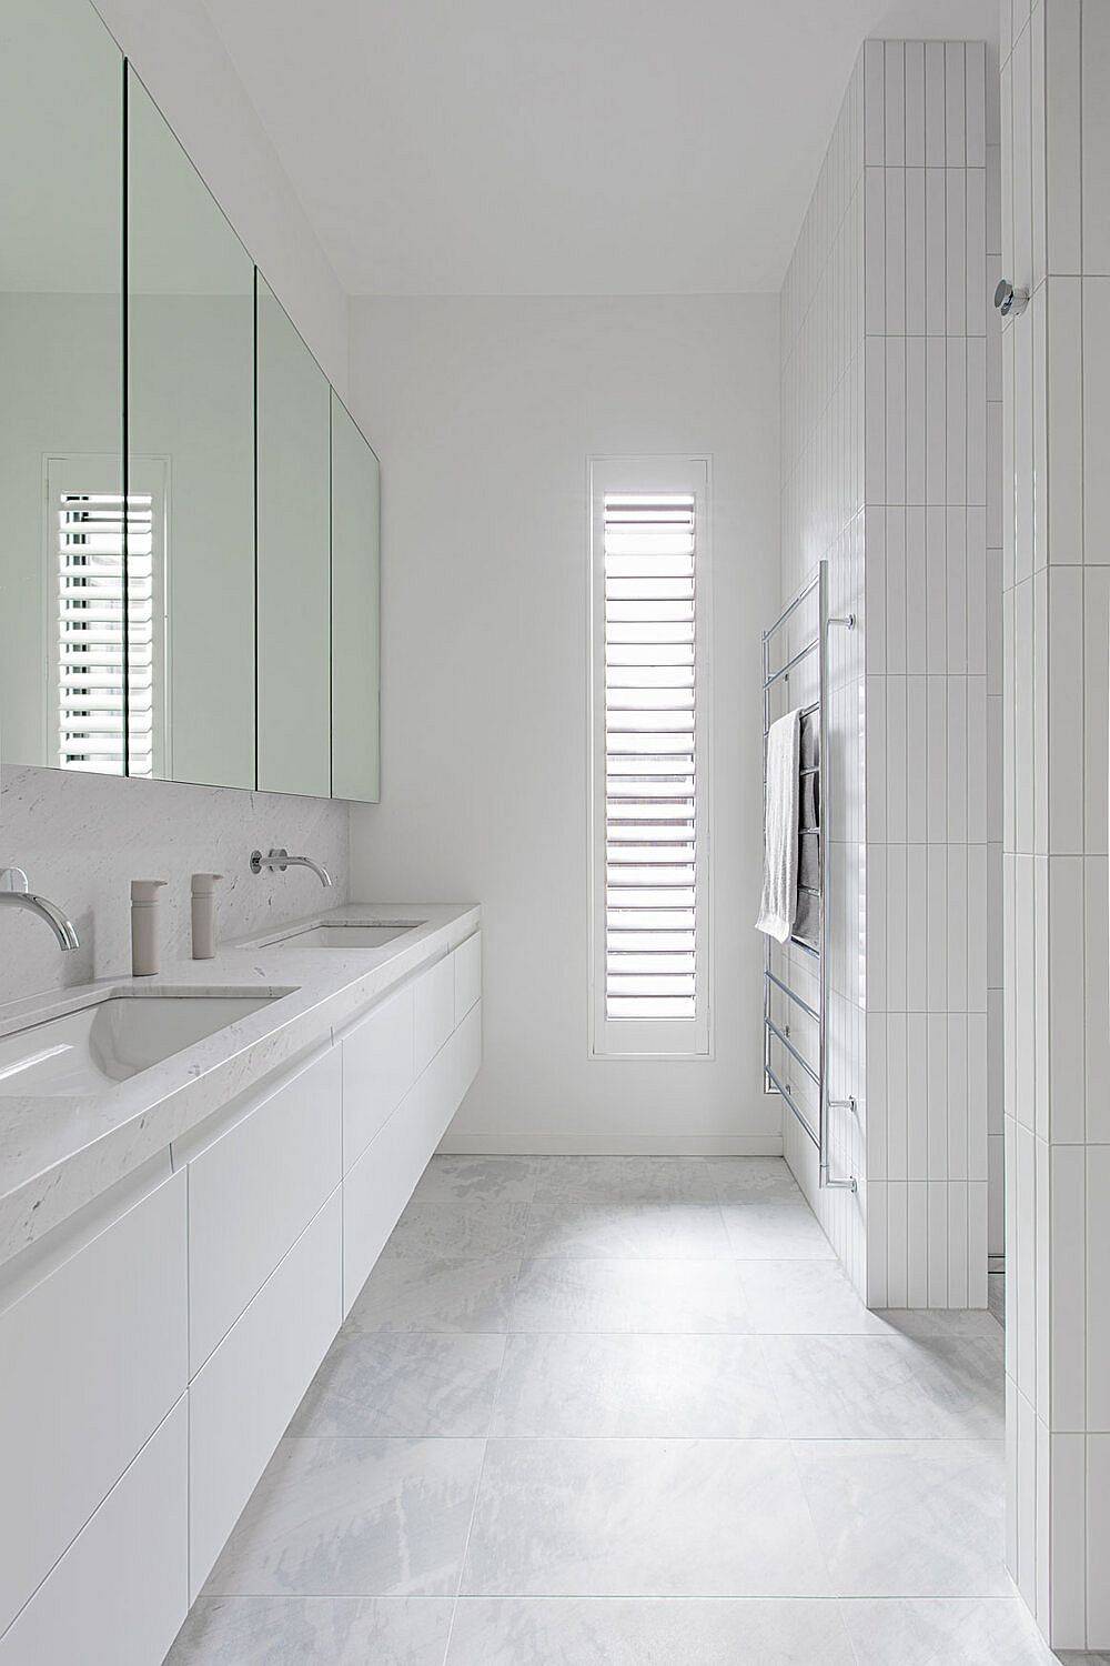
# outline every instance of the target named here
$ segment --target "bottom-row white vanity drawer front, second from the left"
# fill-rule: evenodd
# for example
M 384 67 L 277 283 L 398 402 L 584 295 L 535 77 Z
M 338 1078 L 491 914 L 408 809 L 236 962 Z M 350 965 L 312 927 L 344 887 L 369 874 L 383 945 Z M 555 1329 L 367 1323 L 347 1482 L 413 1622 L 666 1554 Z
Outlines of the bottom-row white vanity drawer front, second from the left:
M 339 1329 L 339 1261 L 336 1188 L 190 1383 L 190 1599 Z

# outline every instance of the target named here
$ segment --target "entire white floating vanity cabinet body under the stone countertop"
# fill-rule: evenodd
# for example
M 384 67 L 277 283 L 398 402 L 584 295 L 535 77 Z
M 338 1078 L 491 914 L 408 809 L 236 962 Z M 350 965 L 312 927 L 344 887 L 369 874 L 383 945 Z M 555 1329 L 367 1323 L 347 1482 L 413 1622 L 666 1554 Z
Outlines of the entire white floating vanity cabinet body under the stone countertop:
M 0 1666 L 158 1666 L 481 1063 L 481 938 L 0 1268 Z

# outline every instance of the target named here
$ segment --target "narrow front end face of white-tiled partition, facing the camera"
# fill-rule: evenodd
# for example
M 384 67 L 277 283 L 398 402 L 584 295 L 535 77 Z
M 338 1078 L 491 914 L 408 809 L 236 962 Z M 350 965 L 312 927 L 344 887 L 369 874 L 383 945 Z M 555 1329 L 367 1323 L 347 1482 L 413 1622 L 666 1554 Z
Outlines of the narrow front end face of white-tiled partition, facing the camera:
M 989 986 L 1002 968 L 997 490 L 990 525 L 987 511 L 1000 165 L 989 135 L 997 77 L 982 42 L 865 43 L 872 1306 L 987 1301 Z M 995 403 L 995 440 L 997 415 Z

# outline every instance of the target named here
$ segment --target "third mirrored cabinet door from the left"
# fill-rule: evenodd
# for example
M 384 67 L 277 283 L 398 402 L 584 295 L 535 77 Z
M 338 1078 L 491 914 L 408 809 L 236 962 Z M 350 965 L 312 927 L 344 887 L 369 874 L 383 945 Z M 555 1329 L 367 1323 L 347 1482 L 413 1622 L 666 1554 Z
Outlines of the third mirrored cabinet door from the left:
M 258 273 L 258 786 L 331 793 L 331 388 Z

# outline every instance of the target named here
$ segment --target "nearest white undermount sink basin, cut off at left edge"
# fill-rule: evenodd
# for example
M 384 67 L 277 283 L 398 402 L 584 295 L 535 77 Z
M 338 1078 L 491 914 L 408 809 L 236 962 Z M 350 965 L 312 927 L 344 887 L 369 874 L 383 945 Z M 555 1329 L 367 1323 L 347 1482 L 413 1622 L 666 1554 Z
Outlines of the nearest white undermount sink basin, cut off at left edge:
M 276 998 L 108 996 L 0 1038 L 0 1095 L 100 1093 L 248 1018 Z

